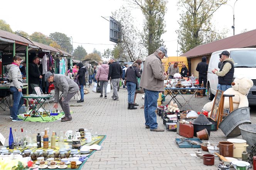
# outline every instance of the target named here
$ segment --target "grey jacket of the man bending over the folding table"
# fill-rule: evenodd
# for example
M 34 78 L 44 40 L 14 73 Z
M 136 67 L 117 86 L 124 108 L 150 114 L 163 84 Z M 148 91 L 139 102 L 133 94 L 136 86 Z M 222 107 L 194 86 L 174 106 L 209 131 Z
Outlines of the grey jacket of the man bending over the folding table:
M 54 103 L 57 103 L 59 100 L 59 91 L 63 93 L 62 97 L 67 98 L 67 93 L 75 93 L 79 91 L 77 83 L 71 80 L 66 75 L 62 74 L 53 74 L 54 75 Z

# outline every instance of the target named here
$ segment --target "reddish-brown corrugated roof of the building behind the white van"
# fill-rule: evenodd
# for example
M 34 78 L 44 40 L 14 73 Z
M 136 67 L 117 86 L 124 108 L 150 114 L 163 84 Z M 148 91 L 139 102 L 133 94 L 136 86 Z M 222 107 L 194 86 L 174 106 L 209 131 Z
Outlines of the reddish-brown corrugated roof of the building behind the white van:
M 228 48 L 245 48 L 256 46 L 256 30 L 240 33 L 211 43 L 199 45 L 180 56 L 187 58 L 210 55 L 213 52 Z

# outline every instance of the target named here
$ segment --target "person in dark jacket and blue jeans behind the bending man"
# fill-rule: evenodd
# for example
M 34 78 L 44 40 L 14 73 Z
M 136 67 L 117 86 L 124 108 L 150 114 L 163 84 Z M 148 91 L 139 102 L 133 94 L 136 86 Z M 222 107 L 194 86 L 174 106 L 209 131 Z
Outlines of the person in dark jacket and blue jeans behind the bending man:
M 77 101 L 77 103 L 84 102 L 84 86 L 86 85 L 85 82 L 85 73 L 87 71 L 86 67 L 83 65 L 83 63 L 77 63 L 76 65 L 77 68 L 79 68 L 77 75 L 78 75 L 78 80 L 80 84 L 80 94 L 81 94 L 81 99 Z

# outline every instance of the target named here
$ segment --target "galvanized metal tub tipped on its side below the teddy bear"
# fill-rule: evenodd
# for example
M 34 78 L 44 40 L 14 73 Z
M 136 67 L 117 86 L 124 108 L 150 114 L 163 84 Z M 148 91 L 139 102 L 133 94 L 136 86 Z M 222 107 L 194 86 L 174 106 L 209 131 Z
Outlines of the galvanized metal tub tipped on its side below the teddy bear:
M 239 125 L 243 124 L 251 124 L 249 107 L 237 108 L 230 112 L 219 124 L 219 128 L 227 138 L 237 137 L 241 135 Z

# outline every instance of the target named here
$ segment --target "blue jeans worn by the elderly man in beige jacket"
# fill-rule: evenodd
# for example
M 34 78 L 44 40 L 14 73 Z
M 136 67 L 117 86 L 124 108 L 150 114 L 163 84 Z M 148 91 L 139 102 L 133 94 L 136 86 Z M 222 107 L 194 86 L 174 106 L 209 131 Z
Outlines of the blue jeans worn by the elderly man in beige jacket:
M 157 110 L 157 99 L 159 92 L 151 91 L 144 88 L 145 100 L 144 100 L 144 115 L 145 115 L 145 125 L 148 125 L 150 129 L 156 129 L 157 124 L 157 115 L 155 110 Z

